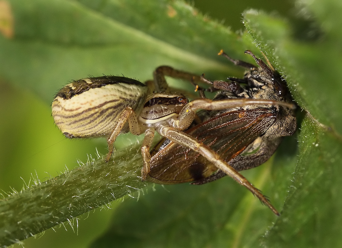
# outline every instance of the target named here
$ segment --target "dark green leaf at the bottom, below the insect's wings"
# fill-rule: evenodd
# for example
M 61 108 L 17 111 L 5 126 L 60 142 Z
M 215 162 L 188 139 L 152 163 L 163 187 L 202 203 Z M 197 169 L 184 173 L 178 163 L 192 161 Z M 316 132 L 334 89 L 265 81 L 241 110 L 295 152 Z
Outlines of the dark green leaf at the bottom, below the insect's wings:
M 288 150 L 286 139 L 280 151 Z M 293 146 L 294 154 L 295 146 Z M 244 175 L 281 209 L 295 156 L 277 153 Z M 121 204 L 108 231 L 91 247 L 254 247 L 276 216 L 231 178 L 199 186 L 155 185 L 139 201 Z

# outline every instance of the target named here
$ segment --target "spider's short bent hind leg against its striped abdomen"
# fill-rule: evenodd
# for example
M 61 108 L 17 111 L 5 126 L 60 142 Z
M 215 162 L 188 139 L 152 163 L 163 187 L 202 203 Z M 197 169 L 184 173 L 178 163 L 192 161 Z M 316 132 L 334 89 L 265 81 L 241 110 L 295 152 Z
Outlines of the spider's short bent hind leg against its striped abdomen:
M 111 134 L 109 135 L 109 137 L 107 139 L 108 154 L 106 157 L 106 163 L 109 162 L 110 157 L 113 154 L 113 150 L 114 150 L 113 143 L 116 140 L 116 137 L 118 137 L 118 135 L 121 133 L 122 128 L 127 121 L 129 123 L 129 129 L 130 129 L 132 134 L 134 134 L 134 135 L 140 135 L 141 134 L 141 129 L 140 129 L 140 126 L 139 126 L 138 121 L 136 119 L 136 115 L 134 113 L 134 110 L 131 107 L 127 107 L 120 114 L 117 125 L 115 126 L 114 130 L 111 132 Z

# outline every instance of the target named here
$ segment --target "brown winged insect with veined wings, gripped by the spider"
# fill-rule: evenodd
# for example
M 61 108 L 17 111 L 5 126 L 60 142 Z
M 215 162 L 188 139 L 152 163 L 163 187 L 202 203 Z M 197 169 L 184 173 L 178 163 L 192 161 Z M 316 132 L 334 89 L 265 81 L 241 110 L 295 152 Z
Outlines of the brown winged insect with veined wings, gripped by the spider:
M 165 82 L 164 75 L 201 81 L 211 85 L 210 91 L 219 91 L 219 99 L 273 99 L 293 103 L 283 79 L 273 67 L 251 55 L 258 66 L 223 55 L 235 65 L 247 68 L 244 78 L 228 78 L 230 81 L 209 81 L 203 76 L 161 67 L 155 78 Z M 197 87 L 198 88 L 198 87 Z M 203 95 L 203 89 L 202 95 Z M 282 137 L 292 135 L 297 129 L 293 108 L 286 106 L 250 105 L 243 108 L 202 111 L 197 113 L 201 123 L 185 130 L 185 133 L 203 142 L 235 170 L 245 170 L 261 165 L 272 156 Z M 159 184 L 192 182 L 203 184 L 226 175 L 213 163 L 197 152 L 170 140 L 162 140 L 152 151 L 151 168 L 147 180 Z

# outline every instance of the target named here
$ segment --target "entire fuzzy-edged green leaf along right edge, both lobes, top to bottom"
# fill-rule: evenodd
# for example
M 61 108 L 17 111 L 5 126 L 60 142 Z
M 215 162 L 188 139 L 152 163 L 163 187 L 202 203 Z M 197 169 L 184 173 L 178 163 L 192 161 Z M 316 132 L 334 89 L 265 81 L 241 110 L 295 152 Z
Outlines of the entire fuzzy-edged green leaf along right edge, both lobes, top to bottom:
M 291 22 L 256 11 L 244 15 L 249 33 L 284 73 L 295 100 L 308 112 L 301 125 L 294 181 L 280 218 L 262 240 L 265 247 L 342 244 L 337 193 L 342 152 L 342 88 L 337 77 L 342 66 L 341 31 L 334 21 L 341 17 L 341 12 L 337 14 L 341 3 L 322 3 L 302 3 L 305 15 Z M 292 27 L 294 23 L 298 25 Z

